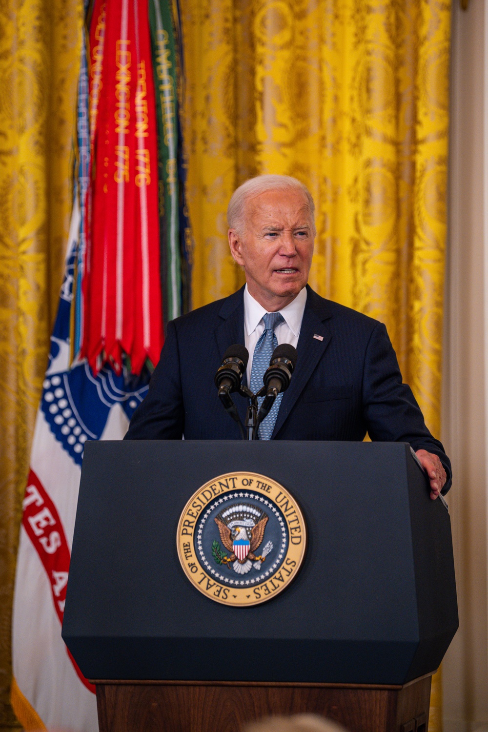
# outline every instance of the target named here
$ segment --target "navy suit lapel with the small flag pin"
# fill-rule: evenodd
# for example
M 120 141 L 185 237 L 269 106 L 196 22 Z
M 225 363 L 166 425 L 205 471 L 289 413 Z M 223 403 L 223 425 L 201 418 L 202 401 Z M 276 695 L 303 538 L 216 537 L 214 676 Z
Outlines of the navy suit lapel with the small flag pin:
M 319 297 L 308 285 L 307 291 L 307 304 L 305 305 L 299 343 L 296 348 L 298 354 L 296 369 L 291 377 L 290 386 L 283 394 L 271 439 L 277 435 L 288 414 L 293 409 L 296 400 L 304 390 L 327 346 L 329 346 L 332 337 L 329 325 L 324 322 L 331 317 L 327 311 L 327 301 Z M 321 336 L 323 340 L 314 338 L 314 335 Z

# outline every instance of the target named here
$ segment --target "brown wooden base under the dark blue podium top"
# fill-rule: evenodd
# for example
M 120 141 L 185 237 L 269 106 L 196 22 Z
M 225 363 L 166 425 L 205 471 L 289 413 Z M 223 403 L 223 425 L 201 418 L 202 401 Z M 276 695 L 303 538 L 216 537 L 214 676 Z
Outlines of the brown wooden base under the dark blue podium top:
M 350 732 L 427 732 L 432 674 L 403 686 L 93 681 L 100 732 L 228 732 L 271 714 L 320 714 Z

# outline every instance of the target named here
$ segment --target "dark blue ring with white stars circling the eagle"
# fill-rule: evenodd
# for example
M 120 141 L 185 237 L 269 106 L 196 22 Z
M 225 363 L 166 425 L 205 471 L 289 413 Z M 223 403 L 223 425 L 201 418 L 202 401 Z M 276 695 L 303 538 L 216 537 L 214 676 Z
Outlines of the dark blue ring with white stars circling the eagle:
M 203 534 L 203 527 L 206 524 L 207 519 L 211 515 L 212 512 L 214 512 L 214 509 L 225 503 L 225 501 L 233 501 L 236 500 L 236 498 L 252 498 L 253 501 L 258 501 L 259 503 L 262 503 L 264 506 L 266 506 L 271 512 L 274 513 L 276 516 L 279 528 L 281 529 L 282 534 L 282 542 L 281 546 L 279 547 L 279 552 L 277 554 L 276 559 L 274 560 L 274 563 L 271 564 L 271 567 L 269 569 L 266 569 L 266 572 L 262 572 L 257 577 L 249 578 L 246 580 L 239 580 L 239 579 L 230 579 L 228 577 L 225 577 L 225 575 L 221 575 L 219 573 L 218 569 L 215 569 L 209 561 L 207 561 L 206 555 L 203 551 L 203 545 L 202 545 L 202 534 Z M 285 521 L 282 518 L 282 514 L 278 511 L 278 509 L 274 506 L 274 504 L 269 501 L 264 496 L 260 496 L 259 493 L 251 493 L 250 491 L 234 491 L 233 493 L 228 493 L 227 496 L 222 496 L 222 498 L 217 498 L 217 500 L 212 501 L 209 508 L 206 510 L 206 512 L 203 514 L 203 516 L 200 517 L 200 523 L 198 526 L 198 532 L 195 536 L 196 539 L 196 550 L 198 551 L 198 554 L 200 555 L 201 563 L 203 564 L 203 567 L 206 567 L 207 572 L 209 572 L 209 575 L 212 575 L 216 580 L 219 580 L 222 584 L 228 585 L 228 586 L 254 586 L 261 582 L 266 581 L 267 578 L 269 578 L 269 575 L 273 575 L 274 572 L 277 571 L 280 564 L 282 563 L 285 552 L 288 544 L 288 536 L 287 536 L 287 529 L 285 526 Z M 263 539 L 263 542 L 265 539 Z M 236 574 L 236 577 L 239 577 L 239 575 Z

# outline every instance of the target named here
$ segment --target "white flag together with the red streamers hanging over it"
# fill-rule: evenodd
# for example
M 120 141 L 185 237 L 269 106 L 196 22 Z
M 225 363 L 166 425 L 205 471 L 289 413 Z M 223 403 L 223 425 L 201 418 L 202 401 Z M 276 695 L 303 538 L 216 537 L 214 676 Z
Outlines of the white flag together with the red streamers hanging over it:
M 148 0 L 94 0 L 70 238 L 15 578 L 11 699 L 27 730 L 98 728 L 94 687 L 61 624 L 84 444 L 124 436 L 164 340 L 155 105 Z

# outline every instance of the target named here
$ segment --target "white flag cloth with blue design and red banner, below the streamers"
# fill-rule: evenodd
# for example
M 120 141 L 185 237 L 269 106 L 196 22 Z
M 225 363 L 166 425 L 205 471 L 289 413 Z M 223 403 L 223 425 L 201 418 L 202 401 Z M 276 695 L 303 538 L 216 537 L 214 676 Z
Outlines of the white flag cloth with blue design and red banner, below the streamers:
M 70 367 L 70 305 L 78 240 L 78 206 L 50 362 L 37 413 L 20 529 L 12 625 L 12 706 L 29 729 L 96 732 L 94 687 L 61 639 L 64 597 L 75 524 L 83 446 L 87 439 L 121 439 L 147 391 L 124 376 L 86 362 Z

